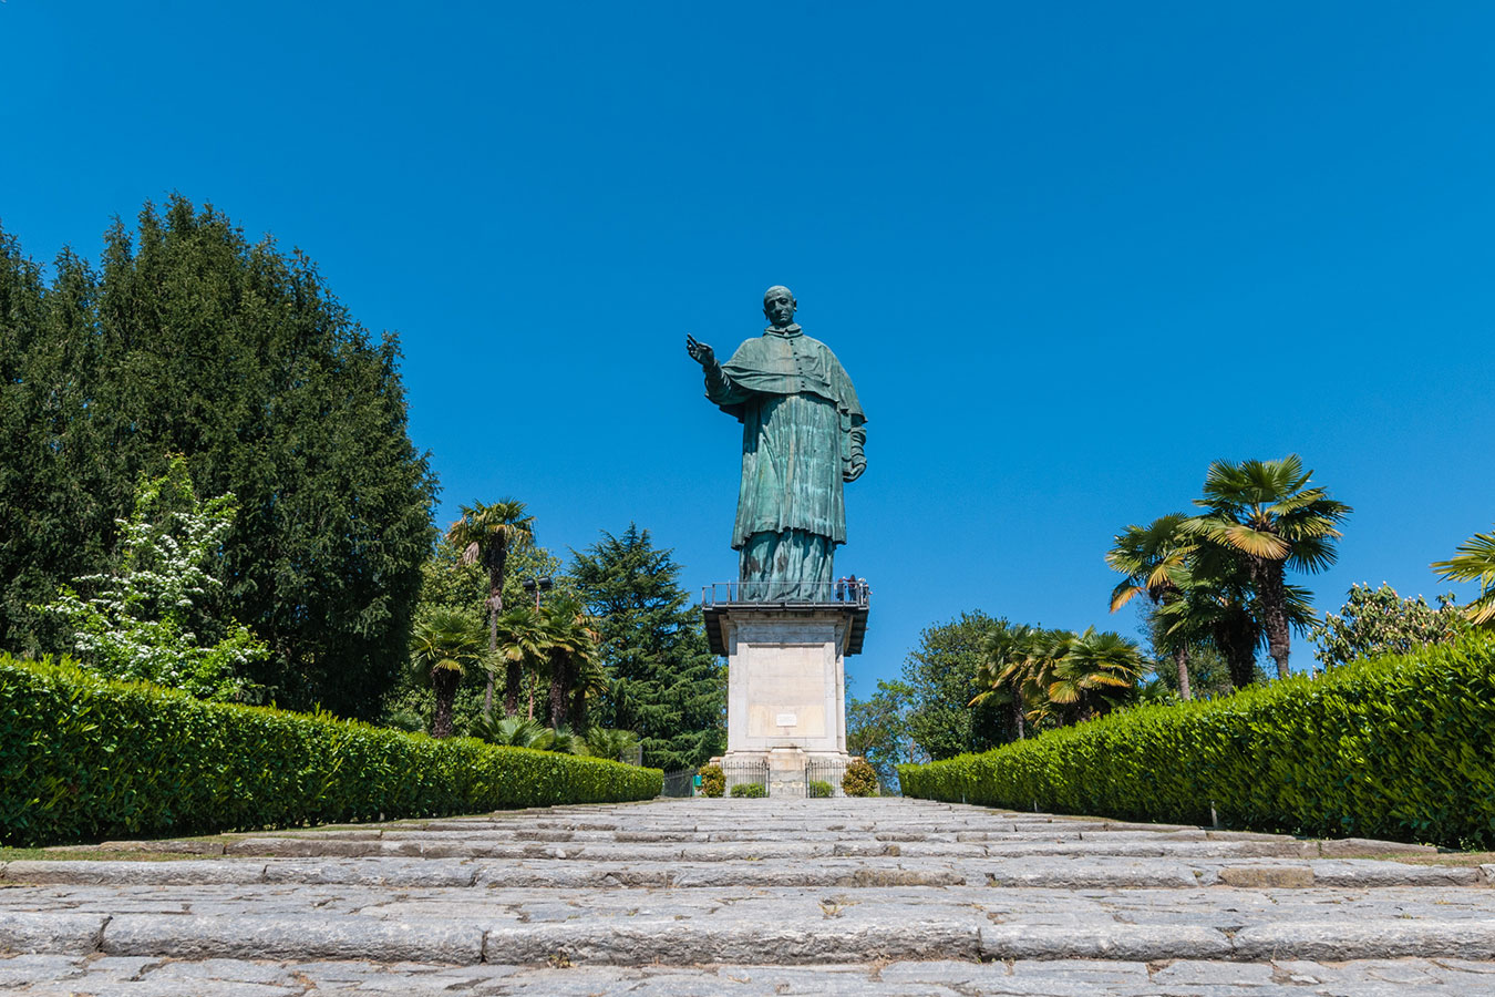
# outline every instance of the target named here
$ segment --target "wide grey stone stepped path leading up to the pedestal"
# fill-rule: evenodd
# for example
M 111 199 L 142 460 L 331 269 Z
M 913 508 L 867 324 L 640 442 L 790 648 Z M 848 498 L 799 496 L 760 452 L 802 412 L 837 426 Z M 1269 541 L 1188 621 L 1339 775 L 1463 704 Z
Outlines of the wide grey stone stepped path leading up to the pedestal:
M 1495 865 L 1377 842 L 773 798 L 148 848 L 196 856 L 0 867 L 0 993 L 1495 996 Z

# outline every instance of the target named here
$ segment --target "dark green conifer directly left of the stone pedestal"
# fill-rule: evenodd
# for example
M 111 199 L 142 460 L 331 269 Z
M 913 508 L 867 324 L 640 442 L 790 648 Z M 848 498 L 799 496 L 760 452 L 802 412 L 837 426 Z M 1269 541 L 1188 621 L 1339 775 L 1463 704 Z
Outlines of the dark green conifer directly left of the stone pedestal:
M 571 578 L 597 617 L 611 691 L 592 722 L 635 731 L 644 764 L 698 765 L 725 741 L 727 668 L 712 655 L 680 565 L 629 523 L 576 555 Z

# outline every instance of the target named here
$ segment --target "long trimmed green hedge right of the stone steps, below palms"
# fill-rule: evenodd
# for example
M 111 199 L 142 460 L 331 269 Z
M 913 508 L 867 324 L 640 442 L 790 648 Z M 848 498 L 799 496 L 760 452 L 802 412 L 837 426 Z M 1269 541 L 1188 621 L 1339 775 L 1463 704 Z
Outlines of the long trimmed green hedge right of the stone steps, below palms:
M 1212 801 L 1235 828 L 1495 848 L 1495 643 L 1127 710 L 898 779 L 1015 810 L 1209 824 Z

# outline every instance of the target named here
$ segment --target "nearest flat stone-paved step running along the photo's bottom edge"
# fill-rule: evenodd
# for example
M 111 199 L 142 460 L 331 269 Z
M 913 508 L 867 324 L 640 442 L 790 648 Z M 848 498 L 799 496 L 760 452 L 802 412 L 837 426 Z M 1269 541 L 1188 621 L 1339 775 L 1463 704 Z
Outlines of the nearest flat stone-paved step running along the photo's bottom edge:
M 489 994 L 514 997 L 957 997 L 960 994 L 1189 994 L 1209 997 L 1356 997 L 1438 994 L 1486 997 L 1495 964 L 1464 960 L 1272 963 L 1214 960 L 896 961 L 851 966 L 728 963 L 586 966 L 368 960 L 155 960 L 151 957 L 16 955 L 0 958 L 7 994 L 190 994 L 191 997 L 312 997 L 314 994 Z M 40 981 L 40 982 L 39 982 Z M 58 981 L 52 984 L 49 981 Z

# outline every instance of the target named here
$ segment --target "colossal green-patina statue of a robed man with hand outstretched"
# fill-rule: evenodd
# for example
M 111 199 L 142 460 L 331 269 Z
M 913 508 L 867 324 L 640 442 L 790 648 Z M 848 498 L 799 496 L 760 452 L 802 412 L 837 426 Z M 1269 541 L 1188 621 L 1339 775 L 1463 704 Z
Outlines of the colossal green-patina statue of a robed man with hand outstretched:
M 842 483 L 867 469 L 867 430 L 840 360 L 794 323 L 788 287 L 762 296 L 768 327 L 719 363 L 685 338 L 706 372 L 706 398 L 743 425 L 743 477 L 733 550 L 739 598 L 827 601 L 836 546 L 846 543 Z

